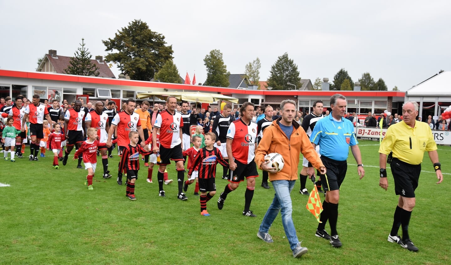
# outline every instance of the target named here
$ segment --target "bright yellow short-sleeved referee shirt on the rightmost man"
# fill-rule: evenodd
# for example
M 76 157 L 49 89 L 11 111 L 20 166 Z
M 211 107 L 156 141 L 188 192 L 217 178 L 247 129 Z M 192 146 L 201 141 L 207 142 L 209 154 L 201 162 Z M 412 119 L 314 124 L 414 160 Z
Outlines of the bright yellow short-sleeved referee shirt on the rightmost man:
M 388 155 L 393 151 L 393 157 L 411 165 L 423 162 L 424 152 L 437 150 L 432 130 L 426 122 L 415 121 L 411 128 L 404 121 L 388 127 L 387 133 L 379 147 L 379 153 Z

